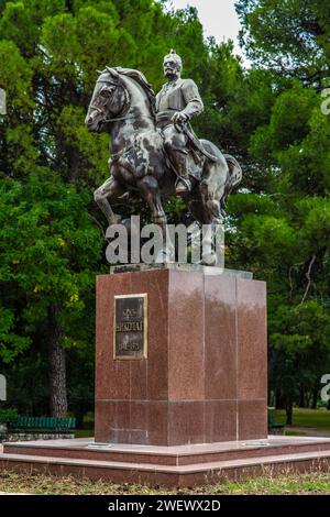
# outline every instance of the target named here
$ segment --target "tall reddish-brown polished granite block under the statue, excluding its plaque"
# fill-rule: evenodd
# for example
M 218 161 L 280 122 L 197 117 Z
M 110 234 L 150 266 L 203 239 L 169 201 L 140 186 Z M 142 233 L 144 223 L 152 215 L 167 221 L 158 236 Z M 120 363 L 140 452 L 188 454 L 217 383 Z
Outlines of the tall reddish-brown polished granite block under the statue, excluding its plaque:
M 147 295 L 147 358 L 113 359 L 114 296 Z M 96 441 L 180 446 L 267 437 L 266 286 L 154 268 L 97 279 Z

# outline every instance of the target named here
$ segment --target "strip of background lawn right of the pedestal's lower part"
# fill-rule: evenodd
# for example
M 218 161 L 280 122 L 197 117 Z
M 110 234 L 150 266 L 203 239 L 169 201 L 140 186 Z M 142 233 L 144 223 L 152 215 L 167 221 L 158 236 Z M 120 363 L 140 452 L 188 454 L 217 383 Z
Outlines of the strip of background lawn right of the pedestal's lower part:
M 285 410 L 275 410 L 274 418 L 275 422 L 285 424 Z M 330 432 L 330 411 L 327 411 L 327 409 L 294 408 L 293 426 L 289 429 L 295 427 L 307 427 Z

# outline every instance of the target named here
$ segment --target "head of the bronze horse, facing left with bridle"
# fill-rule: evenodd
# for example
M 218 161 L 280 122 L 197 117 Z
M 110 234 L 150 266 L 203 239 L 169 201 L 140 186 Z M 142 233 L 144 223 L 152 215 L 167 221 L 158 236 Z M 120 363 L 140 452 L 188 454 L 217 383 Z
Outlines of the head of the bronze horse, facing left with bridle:
M 101 132 L 107 123 L 123 116 L 130 107 L 130 95 L 114 68 L 107 67 L 92 92 L 85 123 L 89 131 Z

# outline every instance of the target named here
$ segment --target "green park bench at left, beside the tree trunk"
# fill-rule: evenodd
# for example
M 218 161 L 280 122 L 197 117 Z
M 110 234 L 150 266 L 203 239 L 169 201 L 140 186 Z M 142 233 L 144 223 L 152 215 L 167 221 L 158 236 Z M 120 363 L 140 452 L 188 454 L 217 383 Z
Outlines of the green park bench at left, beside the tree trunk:
M 22 417 L 10 422 L 10 432 L 72 433 L 76 428 L 75 418 Z

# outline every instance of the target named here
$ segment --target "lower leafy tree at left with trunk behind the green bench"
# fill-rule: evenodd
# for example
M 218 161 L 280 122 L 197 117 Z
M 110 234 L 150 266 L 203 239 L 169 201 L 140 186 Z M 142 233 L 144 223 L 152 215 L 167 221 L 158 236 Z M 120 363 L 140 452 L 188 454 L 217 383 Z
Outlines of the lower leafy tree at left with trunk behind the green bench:
M 7 315 L 0 354 L 8 363 L 32 342 L 36 354 L 46 342 L 51 413 L 64 415 L 66 350 L 81 346 L 79 324 L 87 324 L 102 242 L 86 211 L 86 195 L 50 170 L 31 174 L 24 184 L 2 179 L 0 194 L 1 301 Z

